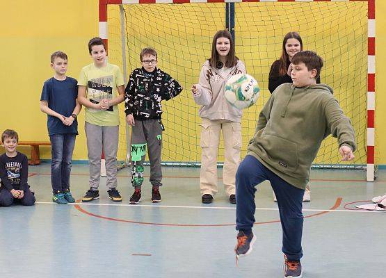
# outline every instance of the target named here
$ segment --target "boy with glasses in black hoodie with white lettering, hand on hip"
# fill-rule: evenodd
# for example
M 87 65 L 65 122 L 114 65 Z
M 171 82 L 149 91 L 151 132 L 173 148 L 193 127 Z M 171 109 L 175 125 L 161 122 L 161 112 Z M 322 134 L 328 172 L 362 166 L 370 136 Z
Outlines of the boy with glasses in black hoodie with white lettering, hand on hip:
M 143 161 L 146 145 L 150 160 L 150 183 L 152 183 L 152 202 L 161 202 L 159 186 L 162 186 L 161 172 L 161 100 L 169 100 L 179 95 L 182 87 L 169 74 L 156 67 L 157 54 L 152 48 L 140 52 L 142 67 L 130 74 L 125 90 L 126 120 L 131 129 L 131 183 L 134 193 L 130 204 L 138 204 L 143 183 Z

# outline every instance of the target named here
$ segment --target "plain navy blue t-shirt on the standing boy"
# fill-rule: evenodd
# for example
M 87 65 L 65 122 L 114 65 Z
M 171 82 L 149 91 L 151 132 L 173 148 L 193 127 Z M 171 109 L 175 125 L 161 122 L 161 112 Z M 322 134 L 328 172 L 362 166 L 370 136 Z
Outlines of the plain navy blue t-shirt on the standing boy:
M 53 111 L 70 117 L 76 106 L 78 97 L 78 81 L 72 77 L 65 80 L 56 80 L 51 77 L 43 85 L 42 96 L 40 100 L 48 102 L 48 107 Z M 49 136 L 54 134 L 75 133 L 78 134 L 78 122 L 74 120 L 72 125 L 66 126 L 57 117 L 47 115 L 47 127 Z

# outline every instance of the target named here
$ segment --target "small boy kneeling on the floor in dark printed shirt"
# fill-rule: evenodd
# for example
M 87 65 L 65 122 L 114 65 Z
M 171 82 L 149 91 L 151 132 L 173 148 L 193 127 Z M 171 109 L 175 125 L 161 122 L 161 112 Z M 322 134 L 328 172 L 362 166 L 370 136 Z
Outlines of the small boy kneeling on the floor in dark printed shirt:
M 6 152 L 0 156 L 0 206 L 10 206 L 14 201 L 24 206 L 35 204 L 35 196 L 27 183 L 27 157 L 16 152 L 18 141 L 19 136 L 11 129 L 6 129 L 1 135 Z

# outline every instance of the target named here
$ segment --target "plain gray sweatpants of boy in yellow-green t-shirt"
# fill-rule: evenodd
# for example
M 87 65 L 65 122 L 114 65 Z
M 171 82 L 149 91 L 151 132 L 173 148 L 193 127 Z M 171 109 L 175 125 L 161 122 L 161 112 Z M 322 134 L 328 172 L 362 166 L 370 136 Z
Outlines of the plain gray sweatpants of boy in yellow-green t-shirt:
M 102 147 L 106 160 L 106 186 L 117 187 L 117 150 L 119 126 L 97 126 L 86 122 L 88 162 L 90 163 L 90 187 L 97 190 L 101 176 Z

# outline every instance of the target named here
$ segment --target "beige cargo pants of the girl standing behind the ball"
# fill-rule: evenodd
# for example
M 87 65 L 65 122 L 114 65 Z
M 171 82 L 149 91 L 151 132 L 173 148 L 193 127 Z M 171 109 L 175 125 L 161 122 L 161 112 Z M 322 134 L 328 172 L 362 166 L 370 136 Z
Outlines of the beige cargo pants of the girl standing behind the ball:
M 202 118 L 202 147 L 200 190 L 201 195 L 216 195 L 217 188 L 217 158 L 220 134 L 224 140 L 223 184 L 228 197 L 235 194 L 236 171 L 241 161 L 241 123 L 229 120 L 208 120 Z

